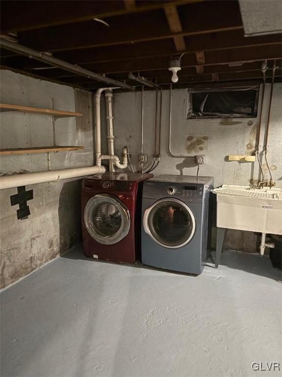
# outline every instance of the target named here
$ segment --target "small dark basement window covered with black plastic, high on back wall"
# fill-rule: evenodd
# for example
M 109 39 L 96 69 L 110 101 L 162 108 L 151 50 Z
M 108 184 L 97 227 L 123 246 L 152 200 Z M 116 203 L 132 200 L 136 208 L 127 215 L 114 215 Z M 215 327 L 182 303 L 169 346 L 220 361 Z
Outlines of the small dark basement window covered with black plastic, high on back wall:
M 258 93 L 258 86 L 191 89 L 187 118 L 256 118 Z

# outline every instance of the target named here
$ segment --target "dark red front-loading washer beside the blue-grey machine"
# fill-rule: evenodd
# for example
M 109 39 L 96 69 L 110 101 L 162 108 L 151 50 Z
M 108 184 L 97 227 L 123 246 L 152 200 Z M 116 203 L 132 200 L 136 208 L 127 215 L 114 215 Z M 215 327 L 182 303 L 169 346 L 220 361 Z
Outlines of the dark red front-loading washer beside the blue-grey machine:
M 142 181 L 152 177 L 107 172 L 84 178 L 81 214 L 86 256 L 121 263 L 140 260 Z

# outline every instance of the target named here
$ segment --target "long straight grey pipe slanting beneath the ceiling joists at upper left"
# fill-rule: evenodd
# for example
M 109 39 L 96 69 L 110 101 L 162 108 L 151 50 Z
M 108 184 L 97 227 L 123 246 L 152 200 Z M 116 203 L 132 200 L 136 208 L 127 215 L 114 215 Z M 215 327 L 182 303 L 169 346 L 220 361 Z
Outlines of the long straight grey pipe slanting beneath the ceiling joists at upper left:
M 56 57 L 50 56 L 48 54 L 40 53 L 39 51 L 30 49 L 30 48 L 22 46 L 22 45 L 19 45 L 18 43 L 10 42 L 6 39 L 0 38 L 0 44 L 1 44 L 1 47 L 5 48 L 7 50 L 14 51 L 14 52 L 22 54 L 22 55 L 26 55 L 30 58 L 33 58 L 33 59 L 36 59 L 36 60 L 39 60 L 39 61 L 43 61 L 44 63 L 50 64 L 54 67 L 62 68 L 65 71 L 78 73 L 80 76 L 85 76 L 89 79 L 94 79 L 94 80 L 97 80 L 97 81 L 106 82 L 107 84 L 116 85 L 116 86 L 119 86 L 123 89 L 135 90 L 134 86 L 130 86 L 128 84 L 125 84 L 124 82 L 113 80 L 113 79 L 110 79 L 108 77 L 99 75 L 97 73 L 88 71 L 87 69 L 79 67 L 78 65 L 73 65 L 73 64 L 68 63 L 64 60 L 57 59 Z

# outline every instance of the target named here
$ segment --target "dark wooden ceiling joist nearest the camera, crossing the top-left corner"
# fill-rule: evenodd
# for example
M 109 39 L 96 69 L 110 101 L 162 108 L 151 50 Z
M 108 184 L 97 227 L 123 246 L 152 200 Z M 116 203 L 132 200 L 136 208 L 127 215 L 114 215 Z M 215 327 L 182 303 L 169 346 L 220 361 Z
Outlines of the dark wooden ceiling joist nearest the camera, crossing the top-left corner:
M 146 12 L 161 9 L 164 5 L 188 4 L 202 0 L 173 0 L 173 1 L 142 1 L 135 8 L 127 8 L 121 0 L 107 1 L 2 1 L 1 2 L 1 32 L 34 30 L 44 27 L 71 24 L 93 20 L 122 16 L 129 13 Z M 24 15 L 24 17 L 23 17 Z M 44 17 L 42 17 L 44 15 Z

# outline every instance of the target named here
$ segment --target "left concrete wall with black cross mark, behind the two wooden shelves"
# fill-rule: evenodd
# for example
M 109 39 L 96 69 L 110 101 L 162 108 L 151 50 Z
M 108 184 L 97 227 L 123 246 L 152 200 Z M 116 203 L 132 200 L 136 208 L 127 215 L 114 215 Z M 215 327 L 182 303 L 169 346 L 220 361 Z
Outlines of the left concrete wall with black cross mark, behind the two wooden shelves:
M 1 103 L 54 108 L 83 113 L 81 118 L 55 121 L 57 145 L 82 145 L 83 150 L 51 153 L 51 169 L 91 166 L 93 157 L 93 95 L 70 86 L 41 81 L 1 70 Z M 45 115 L 0 113 L 0 147 L 53 145 L 52 118 Z M 47 170 L 47 153 L 0 156 L 0 174 Z M 18 220 L 10 196 L 17 188 L 0 191 L 1 287 L 5 287 L 72 245 L 81 242 L 81 179 L 27 186 L 33 200 L 31 215 Z

